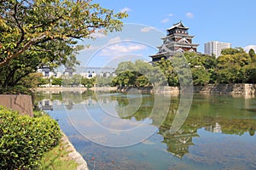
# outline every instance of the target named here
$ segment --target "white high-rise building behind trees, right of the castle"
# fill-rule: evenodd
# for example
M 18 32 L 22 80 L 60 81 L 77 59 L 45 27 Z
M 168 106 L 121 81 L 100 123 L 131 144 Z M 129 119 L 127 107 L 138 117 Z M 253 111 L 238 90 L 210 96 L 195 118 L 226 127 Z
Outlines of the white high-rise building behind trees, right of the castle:
M 205 54 L 212 55 L 214 54 L 216 58 L 218 58 L 219 55 L 221 55 L 221 51 L 224 48 L 231 48 L 230 42 L 207 42 L 205 43 Z

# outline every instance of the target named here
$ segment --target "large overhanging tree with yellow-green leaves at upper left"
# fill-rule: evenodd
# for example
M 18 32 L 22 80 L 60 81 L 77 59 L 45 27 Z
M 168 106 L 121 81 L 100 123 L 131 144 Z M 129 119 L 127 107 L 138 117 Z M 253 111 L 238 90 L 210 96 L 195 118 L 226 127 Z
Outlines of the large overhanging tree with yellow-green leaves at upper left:
M 14 87 L 38 68 L 75 65 L 78 40 L 95 32 L 120 31 L 122 18 L 91 1 L 0 2 L 0 84 Z

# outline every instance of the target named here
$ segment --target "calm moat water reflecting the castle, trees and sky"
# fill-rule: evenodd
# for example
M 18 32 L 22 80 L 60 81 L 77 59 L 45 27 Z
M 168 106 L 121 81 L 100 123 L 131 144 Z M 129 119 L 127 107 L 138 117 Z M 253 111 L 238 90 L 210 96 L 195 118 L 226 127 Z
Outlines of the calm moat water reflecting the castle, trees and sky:
M 183 120 L 179 96 L 86 91 L 37 99 L 90 169 L 256 169 L 252 96 L 194 94 Z

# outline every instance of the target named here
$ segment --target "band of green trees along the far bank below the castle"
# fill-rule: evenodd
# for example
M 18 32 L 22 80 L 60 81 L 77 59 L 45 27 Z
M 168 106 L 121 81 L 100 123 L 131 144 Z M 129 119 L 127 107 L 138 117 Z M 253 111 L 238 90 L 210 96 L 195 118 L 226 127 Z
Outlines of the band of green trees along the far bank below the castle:
M 154 72 L 158 67 L 169 86 L 179 86 L 180 82 L 189 83 L 188 69 L 183 68 L 187 62 L 192 73 L 194 85 L 208 83 L 254 83 L 256 82 L 256 55 L 251 49 L 246 53 L 242 48 L 224 49 L 218 58 L 195 53 L 177 54 L 172 59 L 160 59 L 154 66 L 136 61 L 122 62 L 116 69 L 118 77 L 113 79 L 113 85 L 145 87 L 154 85 L 144 80 L 148 72 Z M 140 74 L 137 74 L 137 73 Z M 158 76 L 156 76 L 158 77 Z M 189 80 L 189 81 L 188 81 Z M 136 83 L 141 81 L 141 83 Z M 161 80 L 158 80 L 161 82 Z M 186 82 L 187 81 L 187 82 Z

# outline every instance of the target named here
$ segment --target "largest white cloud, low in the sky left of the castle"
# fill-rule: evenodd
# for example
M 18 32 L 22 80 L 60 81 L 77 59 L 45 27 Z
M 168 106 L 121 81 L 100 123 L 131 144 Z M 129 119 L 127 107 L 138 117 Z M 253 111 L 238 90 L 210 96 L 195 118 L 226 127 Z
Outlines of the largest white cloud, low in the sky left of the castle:
M 140 50 L 147 48 L 143 44 L 133 44 L 133 43 L 125 43 L 125 44 L 112 44 L 106 48 L 102 49 L 100 55 L 102 56 L 118 56 L 131 54 Z

